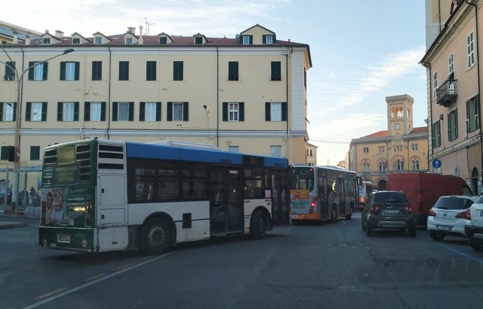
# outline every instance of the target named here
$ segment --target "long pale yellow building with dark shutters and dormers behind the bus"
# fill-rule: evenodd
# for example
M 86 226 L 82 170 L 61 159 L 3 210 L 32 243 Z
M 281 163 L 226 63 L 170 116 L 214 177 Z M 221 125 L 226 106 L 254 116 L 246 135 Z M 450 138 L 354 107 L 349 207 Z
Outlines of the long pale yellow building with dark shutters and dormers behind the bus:
M 261 25 L 233 38 L 56 31 L 3 48 L 0 168 L 12 166 L 17 113 L 21 168 L 41 165 L 49 144 L 92 137 L 175 139 L 308 163 L 310 48 Z M 17 106 L 6 64 L 21 73 L 71 48 L 25 72 Z

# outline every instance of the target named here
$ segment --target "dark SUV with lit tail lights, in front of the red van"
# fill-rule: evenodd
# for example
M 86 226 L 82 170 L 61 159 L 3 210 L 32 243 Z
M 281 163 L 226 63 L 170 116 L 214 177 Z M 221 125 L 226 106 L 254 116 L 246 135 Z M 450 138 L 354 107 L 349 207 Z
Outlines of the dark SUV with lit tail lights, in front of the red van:
M 374 229 L 400 229 L 416 237 L 416 219 L 409 198 L 400 191 L 369 194 L 362 215 L 362 229 L 372 236 Z

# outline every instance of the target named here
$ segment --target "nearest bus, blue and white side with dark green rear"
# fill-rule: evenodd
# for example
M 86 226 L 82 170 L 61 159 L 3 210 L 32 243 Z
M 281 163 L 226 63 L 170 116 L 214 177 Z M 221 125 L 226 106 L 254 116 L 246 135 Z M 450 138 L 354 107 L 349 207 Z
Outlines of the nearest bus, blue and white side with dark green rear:
M 288 160 L 171 142 L 90 139 L 45 148 L 39 244 L 163 253 L 290 225 Z

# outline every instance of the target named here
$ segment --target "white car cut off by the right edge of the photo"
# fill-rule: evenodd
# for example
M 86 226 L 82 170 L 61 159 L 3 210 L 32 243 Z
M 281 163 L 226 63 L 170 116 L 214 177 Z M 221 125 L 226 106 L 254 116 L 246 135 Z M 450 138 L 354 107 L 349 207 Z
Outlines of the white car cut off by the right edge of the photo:
M 464 233 L 468 237 L 471 248 L 483 251 L 483 194 L 466 211 Z

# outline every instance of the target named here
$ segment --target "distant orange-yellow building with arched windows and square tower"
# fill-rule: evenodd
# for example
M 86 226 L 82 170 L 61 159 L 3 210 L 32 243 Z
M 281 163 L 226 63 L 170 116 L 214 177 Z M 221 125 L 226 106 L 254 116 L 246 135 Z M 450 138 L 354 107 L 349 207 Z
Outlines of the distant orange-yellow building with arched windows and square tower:
M 348 169 L 363 180 L 385 189 L 394 172 L 428 171 L 427 127 L 414 128 L 414 99 L 409 95 L 386 97 L 387 130 L 352 139 Z

